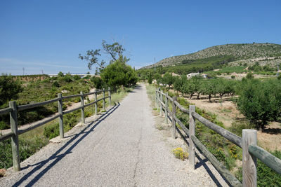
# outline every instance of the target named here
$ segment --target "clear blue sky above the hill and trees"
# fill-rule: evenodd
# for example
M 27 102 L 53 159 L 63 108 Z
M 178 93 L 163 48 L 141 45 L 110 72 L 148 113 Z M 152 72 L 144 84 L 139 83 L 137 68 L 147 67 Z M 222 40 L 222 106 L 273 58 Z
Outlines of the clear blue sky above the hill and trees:
M 86 73 L 78 55 L 103 39 L 136 68 L 226 43 L 281 44 L 280 23 L 280 0 L 1 0 L 0 73 Z

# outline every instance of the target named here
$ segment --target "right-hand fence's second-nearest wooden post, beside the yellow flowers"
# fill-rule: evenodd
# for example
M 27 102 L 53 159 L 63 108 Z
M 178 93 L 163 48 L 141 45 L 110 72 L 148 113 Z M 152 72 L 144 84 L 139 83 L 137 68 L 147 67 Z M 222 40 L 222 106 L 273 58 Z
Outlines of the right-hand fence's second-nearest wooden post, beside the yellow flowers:
M 195 169 L 195 144 L 193 143 L 191 136 L 195 136 L 195 118 L 192 116 L 192 111 L 195 112 L 195 105 L 189 106 L 189 155 L 188 160 L 190 163 L 190 169 Z

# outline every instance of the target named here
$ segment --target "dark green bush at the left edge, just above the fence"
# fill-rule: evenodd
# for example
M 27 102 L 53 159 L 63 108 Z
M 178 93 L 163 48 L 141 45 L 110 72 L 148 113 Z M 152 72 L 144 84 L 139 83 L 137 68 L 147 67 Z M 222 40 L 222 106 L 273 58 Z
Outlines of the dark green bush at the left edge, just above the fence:
M 14 81 L 13 76 L 7 74 L 0 76 L 0 106 L 11 99 L 17 99 L 21 91 L 22 85 L 19 81 Z

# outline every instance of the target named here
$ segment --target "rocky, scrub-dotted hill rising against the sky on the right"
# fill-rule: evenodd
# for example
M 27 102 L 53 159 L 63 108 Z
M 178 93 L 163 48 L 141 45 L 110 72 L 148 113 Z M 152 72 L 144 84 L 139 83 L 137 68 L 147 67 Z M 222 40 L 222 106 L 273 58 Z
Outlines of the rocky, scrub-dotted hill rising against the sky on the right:
M 143 69 L 150 69 L 152 67 L 167 67 L 180 64 L 193 64 L 194 62 L 208 63 L 210 60 L 216 62 L 235 62 L 250 59 L 265 59 L 274 58 L 280 59 L 281 45 L 275 43 L 242 43 L 242 44 L 226 44 L 219 46 L 212 46 L 204 50 L 190 53 L 188 55 L 178 55 L 174 57 L 167 57 L 150 66 L 143 67 Z M 279 62 L 278 60 L 277 62 Z M 223 63 L 222 63 L 223 64 Z M 213 64 L 214 65 L 214 64 Z M 274 64 L 273 64 L 274 65 Z

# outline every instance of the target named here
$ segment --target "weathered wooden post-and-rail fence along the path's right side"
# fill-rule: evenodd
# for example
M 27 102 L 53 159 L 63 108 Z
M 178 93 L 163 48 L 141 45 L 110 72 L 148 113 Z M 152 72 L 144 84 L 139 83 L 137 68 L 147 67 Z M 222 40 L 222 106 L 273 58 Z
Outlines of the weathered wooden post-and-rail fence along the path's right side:
M 163 99 L 165 97 L 165 99 Z M 164 102 L 163 102 L 164 100 Z M 169 110 L 169 101 L 171 102 L 172 111 Z M 176 123 L 181 126 L 183 132 L 189 137 L 189 163 L 191 169 L 195 169 L 195 146 L 204 153 L 205 157 L 211 162 L 218 172 L 230 183 L 231 186 L 256 186 L 256 158 L 259 158 L 268 167 L 281 174 L 281 160 L 274 155 L 268 153 L 263 148 L 256 145 L 256 130 L 242 130 L 242 138 L 236 134 L 223 129 L 211 121 L 203 118 L 195 112 L 195 105 L 190 105 L 189 109 L 184 109 L 181 104 L 176 101 L 176 97 L 169 97 L 168 93 L 164 93 L 158 88 L 155 91 L 155 106 L 159 109 L 162 116 L 162 111 L 165 113 L 164 122 L 168 123 L 168 113 L 171 116 L 172 137 L 176 137 Z M 176 118 L 176 108 L 189 114 L 189 129 L 181 123 L 181 120 Z M 200 142 L 195 136 L 195 120 L 199 120 L 202 124 L 221 134 L 224 138 L 233 142 L 233 144 L 242 148 L 242 183 L 230 173 L 230 171 L 216 159 L 216 157 Z

